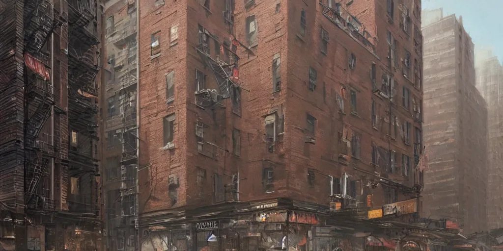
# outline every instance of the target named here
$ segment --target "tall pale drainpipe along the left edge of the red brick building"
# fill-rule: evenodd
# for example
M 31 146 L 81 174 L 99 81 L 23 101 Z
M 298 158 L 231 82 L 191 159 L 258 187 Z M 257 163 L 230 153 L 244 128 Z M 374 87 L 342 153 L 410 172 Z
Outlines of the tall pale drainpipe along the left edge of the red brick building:
M 140 239 L 140 224 L 139 224 L 139 182 L 138 170 L 140 168 L 140 1 L 135 0 L 136 7 L 136 179 L 135 179 L 135 198 L 134 198 L 134 224 L 136 233 L 136 247 L 135 249 L 141 251 Z

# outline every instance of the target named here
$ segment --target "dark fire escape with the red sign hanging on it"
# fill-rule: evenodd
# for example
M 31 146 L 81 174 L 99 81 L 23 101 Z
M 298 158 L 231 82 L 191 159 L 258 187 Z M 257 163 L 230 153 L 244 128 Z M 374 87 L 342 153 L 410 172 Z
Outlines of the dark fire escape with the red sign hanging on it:
M 55 158 L 55 149 L 46 122 L 52 110 L 64 111 L 54 104 L 50 51 L 44 45 L 62 19 L 47 0 L 27 1 L 24 16 L 25 204 L 29 210 L 47 213 L 54 208 L 47 166 Z

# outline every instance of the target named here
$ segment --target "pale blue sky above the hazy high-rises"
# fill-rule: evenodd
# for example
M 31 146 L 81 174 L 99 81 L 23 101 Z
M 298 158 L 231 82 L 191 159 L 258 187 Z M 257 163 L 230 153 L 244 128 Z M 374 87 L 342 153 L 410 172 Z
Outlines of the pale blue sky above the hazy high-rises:
M 492 46 L 503 60 L 503 0 L 423 0 L 423 9 L 444 8 L 444 16 L 463 16 L 463 26 L 475 48 Z

